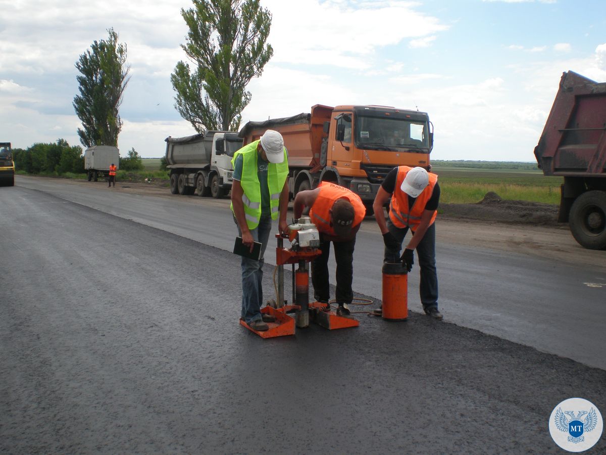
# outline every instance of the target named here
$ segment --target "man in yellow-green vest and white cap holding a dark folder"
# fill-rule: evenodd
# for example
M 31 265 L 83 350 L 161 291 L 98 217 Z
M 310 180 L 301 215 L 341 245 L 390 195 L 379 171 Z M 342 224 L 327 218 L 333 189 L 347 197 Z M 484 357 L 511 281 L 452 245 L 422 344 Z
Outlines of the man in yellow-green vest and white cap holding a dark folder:
M 257 141 L 234 153 L 231 160 L 231 211 L 242 243 L 253 251 L 261 242 L 261 258 L 242 256 L 241 318 L 256 331 L 266 331 L 275 318 L 261 314 L 263 302 L 263 255 L 271 232 L 271 220 L 279 218 L 278 229 L 288 234 L 288 155 L 282 135 L 267 130 Z

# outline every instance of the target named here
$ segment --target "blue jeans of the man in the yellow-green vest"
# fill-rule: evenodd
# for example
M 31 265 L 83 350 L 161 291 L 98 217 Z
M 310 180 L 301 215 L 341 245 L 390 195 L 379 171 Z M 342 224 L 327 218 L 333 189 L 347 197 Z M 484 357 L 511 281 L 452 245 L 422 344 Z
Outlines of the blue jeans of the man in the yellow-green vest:
M 236 224 L 238 226 L 238 224 Z M 271 233 L 271 215 L 261 217 L 259 226 L 251 229 L 250 234 L 255 241 L 261 242 L 261 259 L 255 261 L 242 256 L 242 312 L 240 317 L 247 324 L 261 319 L 263 303 L 263 264 L 265 248 Z M 242 235 L 238 226 L 238 235 Z

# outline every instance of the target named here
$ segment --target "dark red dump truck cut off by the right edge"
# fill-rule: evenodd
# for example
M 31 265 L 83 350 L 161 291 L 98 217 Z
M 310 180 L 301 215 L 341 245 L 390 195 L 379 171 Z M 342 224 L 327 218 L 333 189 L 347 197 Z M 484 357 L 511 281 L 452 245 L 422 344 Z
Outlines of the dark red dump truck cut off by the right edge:
M 606 249 L 606 83 L 562 75 L 534 156 L 544 175 L 564 177 L 558 221 L 585 248 Z

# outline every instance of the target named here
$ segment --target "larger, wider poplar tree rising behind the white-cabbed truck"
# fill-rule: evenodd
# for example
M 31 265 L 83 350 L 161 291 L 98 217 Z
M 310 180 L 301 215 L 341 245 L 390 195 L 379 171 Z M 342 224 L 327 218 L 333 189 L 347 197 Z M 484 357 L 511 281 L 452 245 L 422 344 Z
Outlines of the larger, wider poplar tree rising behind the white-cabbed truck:
M 273 55 L 271 13 L 259 0 L 193 0 L 181 16 L 189 29 L 181 48 L 193 68 L 179 61 L 170 76 L 175 108 L 199 133 L 235 131 L 251 99 L 246 86 Z

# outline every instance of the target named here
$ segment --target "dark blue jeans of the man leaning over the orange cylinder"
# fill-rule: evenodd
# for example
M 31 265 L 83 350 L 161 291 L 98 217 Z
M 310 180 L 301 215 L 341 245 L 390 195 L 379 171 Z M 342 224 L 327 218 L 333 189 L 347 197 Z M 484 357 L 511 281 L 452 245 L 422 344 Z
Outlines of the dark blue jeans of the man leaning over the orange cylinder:
M 391 235 L 398 240 L 400 245 L 408 232 L 408 227 L 400 229 L 391 223 L 387 218 L 387 229 Z M 413 233 L 414 235 L 414 233 Z M 384 261 L 398 262 L 400 260 L 400 251 L 389 250 L 385 247 Z M 438 308 L 438 273 L 436 272 L 436 223 L 427 228 L 425 235 L 416 248 L 416 257 L 419 269 L 421 269 L 421 281 L 419 282 L 419 295 L 423 309 L 429 309 L 432 306 Z

